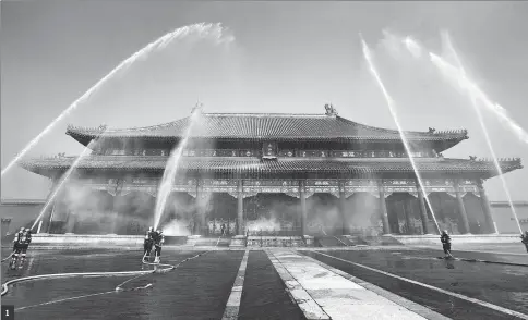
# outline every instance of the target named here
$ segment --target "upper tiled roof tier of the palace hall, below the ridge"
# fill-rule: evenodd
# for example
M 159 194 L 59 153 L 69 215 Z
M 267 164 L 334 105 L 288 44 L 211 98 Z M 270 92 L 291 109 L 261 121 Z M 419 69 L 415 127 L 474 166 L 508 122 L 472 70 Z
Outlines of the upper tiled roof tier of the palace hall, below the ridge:
M 110 130 L 69 126 L 67 134 L 83 144 L 99 135 L 108 137 L 173 138 L 185 134 L 192 116 L 154 126 Z M 352 122 L 337 115 L 280 113 L 202 113 L 192 136 L 215 139 L 274 140 L 400 140 L 396 130 Z M 408 139 L 454 141 L 467 131 L 406 132 Z

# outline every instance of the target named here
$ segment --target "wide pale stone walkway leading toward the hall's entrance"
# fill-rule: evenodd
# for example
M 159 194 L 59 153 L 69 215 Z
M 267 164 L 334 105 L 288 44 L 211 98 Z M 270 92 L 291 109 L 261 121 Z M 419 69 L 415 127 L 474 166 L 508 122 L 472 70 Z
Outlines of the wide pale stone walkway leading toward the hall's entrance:
M 435 318 L 422 317 L 310 257 L 288 249 L 266 253 L 307 319 Z

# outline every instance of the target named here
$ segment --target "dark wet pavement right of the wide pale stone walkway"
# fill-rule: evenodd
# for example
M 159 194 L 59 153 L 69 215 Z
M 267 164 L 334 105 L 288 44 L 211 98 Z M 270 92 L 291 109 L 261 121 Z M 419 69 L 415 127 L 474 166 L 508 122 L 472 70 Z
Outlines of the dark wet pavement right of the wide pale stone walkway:
M 313 251 L 305 251 L 305 254 L 453 319 L 515 319 L 512 316 Z M 528 313 L 527 267 L 440 260 L 436 257 L 443 256 L 443 251 L 424 249 L 334 250 L 325 254 Z M 458 253 L 457 256 L 497 261 L 524 259 L 519 256 L 484 253 Z

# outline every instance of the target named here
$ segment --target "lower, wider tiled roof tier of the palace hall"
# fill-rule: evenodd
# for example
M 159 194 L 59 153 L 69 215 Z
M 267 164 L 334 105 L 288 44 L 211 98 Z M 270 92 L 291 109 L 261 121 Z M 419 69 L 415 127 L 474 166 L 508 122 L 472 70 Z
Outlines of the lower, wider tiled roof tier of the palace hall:
M 88 156 L 79 163 L 79 169 L 100 171 L 156 171 L 163 172 L 167 157 L 139 156 Z M 32 159 L 21 162 L 28 171 L 50 175 L 65 171 L 75 158 Z M 419 172 L 442 172 L 447 174 L 476 173 L 482 177 L 497 174 L 492 161 L 463 159 L 416 159 Z M 520 159 L 501 161 L 503 173 L 523 168 Z M 384 172 L 413 172 L 408 159 L 280 159 L 265 161 L 256 158 L 182 158 L 179 168 L 184 171 L 220 172 L 220 173 L 335 173 L 369 174 Z

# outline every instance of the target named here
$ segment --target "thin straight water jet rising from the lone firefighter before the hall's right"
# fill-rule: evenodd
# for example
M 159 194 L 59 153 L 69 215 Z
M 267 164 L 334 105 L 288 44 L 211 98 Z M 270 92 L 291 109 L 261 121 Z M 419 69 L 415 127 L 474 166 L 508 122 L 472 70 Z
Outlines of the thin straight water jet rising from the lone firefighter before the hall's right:
M 405 136 L 404 131 L 401 130 L 401 125 L 399 123 L 398 115 L 396 114 L 396 108 L 395 108 L 394 100 L 391 97 L 391 95 L 388 94 L 388 91 L 386 90 L 385 85 L 383 84 L 383 82 L 382 82 L 382 79 L 381 79 L 381 77 L 380 77 L 380 75 L 379 75 L 379 73 L 377 73 L 377 71 L 374 66 L 374 62 L 372 61 L 372 56 L 371 56 L 369 46 L 367 46 L 367 42 L 363 40 L 362 37 L 361 37 L 361 45 L 363 47 L 364 59 L 367 60 L 367 63 L 369 64 L 369 69 L 370 69 L 370 72 L 372 73 L 372 76 L 375 78 L 377 85 L 380 86 L 380 89 L 383 93 L 383 96 L 385 97 L 388 110 L 391 111 L 391 114 L 394 119 L 396 127 L 398 128 L 399 136 L 401 137 L 401 141 L 404 143 L 405 150 L 407 151 L 407 155 L 409 155 L 409 160 L 410 160 L 410 163 L 412 165 L 412 170 L 415 171 L 415 174 L 417 176 L 418 184 L 420 185 L 420 188 L 423 190 L 423 196 L 424 196 L 425 202 L 428 204 L 428 206 L 431 210 L 431 216 L 433 217 L 434 224 L 436 225 L 436 229 L 440 233 L 441 231 L 440 231 L 439 222 L 436 221 L 436 217 L 435 217 L 434 211 L 433 211 L 433 206 L 431 206 L 429 197 L 425 194 L 425 188 L 423 187 L 423 181 L 422 181 L 420 172 L 418 171 L 418 168 L 416 165 L 415 158 L 412 157 L 412 153 L 411 153 L 411 150 L 410 150 L 410 147 L 409 147 L 409 143 L 407 141 L 407 137 Z

